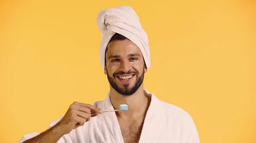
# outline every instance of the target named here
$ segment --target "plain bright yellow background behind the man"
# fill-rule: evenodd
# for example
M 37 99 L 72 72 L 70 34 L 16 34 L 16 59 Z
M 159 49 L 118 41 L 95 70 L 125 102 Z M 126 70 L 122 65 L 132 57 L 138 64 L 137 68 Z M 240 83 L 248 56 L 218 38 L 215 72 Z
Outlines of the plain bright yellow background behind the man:
M 103 100 L 100 10 L 134 8 L 149 37 L 145 89 L 185 109 L 201 143 L 256 143 L 253 0 L 3 0 L 0 143 L 17 143 L 73 101 Z

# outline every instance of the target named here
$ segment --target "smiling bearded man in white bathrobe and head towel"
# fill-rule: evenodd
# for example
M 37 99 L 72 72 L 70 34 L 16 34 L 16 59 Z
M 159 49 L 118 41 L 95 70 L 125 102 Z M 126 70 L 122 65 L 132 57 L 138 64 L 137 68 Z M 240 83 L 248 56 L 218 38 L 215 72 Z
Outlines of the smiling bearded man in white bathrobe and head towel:
M 143 88 L 150 67 L 148 37 L 129 6 L 102 10 L 100 58 L 110 92 L 92 105 L 74 102 L 64 117 L 19 143 L 199 143 L 191 116 Z M 128 111 L 104 112 L 127 104 Z

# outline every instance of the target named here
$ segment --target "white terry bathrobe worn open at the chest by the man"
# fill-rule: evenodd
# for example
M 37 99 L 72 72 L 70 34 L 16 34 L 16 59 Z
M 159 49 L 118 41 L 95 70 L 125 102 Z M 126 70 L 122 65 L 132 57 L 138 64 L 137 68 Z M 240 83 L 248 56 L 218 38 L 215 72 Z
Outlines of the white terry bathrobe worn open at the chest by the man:
M 160 101 L 144 90 L 151 103 L 146 113 L 139 143 L 199 143 L 198 132 L 191 116 L 183 109 Z M 100 109 L 113 109 L 110 94 L 103 101 L 93 103 Z M 62 117 L 61 117 L 62 118 Z M 50 123 L 58 123 L 61 118 Z M 26 134 L 18 143 L 22 143 L 40 133 Z M 73 129 L 64 135 L 58 143 L 124 143 L 115 112 L 105 112 L 91 118 L 84 126 Z

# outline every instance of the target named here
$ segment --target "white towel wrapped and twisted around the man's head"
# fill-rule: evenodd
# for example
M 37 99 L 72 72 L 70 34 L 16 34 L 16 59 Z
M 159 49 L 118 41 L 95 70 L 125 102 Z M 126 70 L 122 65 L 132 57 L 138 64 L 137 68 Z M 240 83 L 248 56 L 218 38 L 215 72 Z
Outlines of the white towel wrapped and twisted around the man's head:
M 134 42 L 141 50 L 147 68 L 150 67 L 148 35 L 140 25 L 139 17 L 133 8 L 118 6 L 99 12 L 97 26 L 102 34 L 99 56 L 102 69 L 105 69 L 105 50 L 109 40 L 115 34 L 121 34 Z

